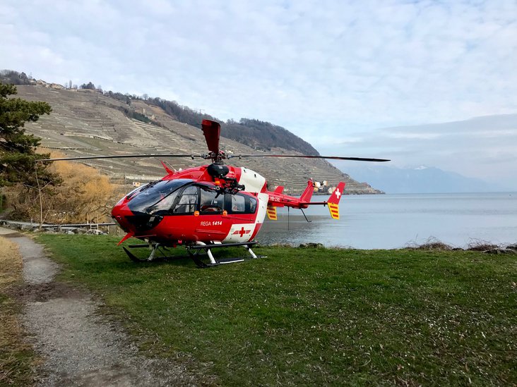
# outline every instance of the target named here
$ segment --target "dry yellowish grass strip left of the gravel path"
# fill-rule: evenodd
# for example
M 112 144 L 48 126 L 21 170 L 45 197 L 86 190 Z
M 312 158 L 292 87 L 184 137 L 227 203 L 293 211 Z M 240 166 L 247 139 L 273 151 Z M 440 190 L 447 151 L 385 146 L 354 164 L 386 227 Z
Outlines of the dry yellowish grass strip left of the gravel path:
M 0 386 L 34 383 L 35 354 L 20 323 L 21 305 L 14 293 L 22 283 L 22 259 L 16 243 L 0 237 Z

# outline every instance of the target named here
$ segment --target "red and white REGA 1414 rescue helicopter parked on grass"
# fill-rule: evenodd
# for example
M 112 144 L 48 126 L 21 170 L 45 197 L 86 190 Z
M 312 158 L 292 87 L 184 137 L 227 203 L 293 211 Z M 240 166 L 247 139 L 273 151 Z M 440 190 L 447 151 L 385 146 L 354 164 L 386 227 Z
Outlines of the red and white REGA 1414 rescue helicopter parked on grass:
M 129 238 L 145 244 L 129 245 L 129 248 L 148 247 L 150 254 L 140 259 L 126 247 L 128 257 L 135 262 L 166 258 L 171 247 L 184 246 L 197 266 L 205 268 L 220 264 L 242 262 L 244 258 L 216 259 L 212 250 L 219 247 L 242 246 L 249 253 L 248 259 L 258 256 L 251 250 L 254 238 L 261 230 L 263 221 L 277 220 L 277 207 L 307 209 L 311 205 L 327 206 L 330 216 L 339 219 L 340 198 L 345 183 L 338 183 L 331 197 L 324 202 L 311 202 L 314 188 L 319 182 L 307 181 L 300 197 L 285 195 L 278 186 L 268 190 L 266 178 L 249 168 L 227 166 L 224 160 L 234 157 L 297 157 L 309 159 L 338 159 L 355 161 L 390 161 L 342 156 L 309 156 L 290 154 L 226 154 L 219 147 L 220 123 L 203 120 L 201 129 L 208 147 L 208 154 L 131 154 L 114 156 L 78 156 L 39 161 L 110 159 L 127 157 L 191 157 L 210 160 L 211 164 L 176 171 L 163 161 L 167 172 L 161 180 L 145 184 L 122 197 L 112 209 L 112 218 L 126 232 L 119 242 Z M 307 217 L 306 217 L 307 219 Z M 203 262 L 199 252 L 205 252 L 208 262 Z M 203 258 L 204 259 L 204 258 Z M 205 259 L 206 261 L 206 259 Z

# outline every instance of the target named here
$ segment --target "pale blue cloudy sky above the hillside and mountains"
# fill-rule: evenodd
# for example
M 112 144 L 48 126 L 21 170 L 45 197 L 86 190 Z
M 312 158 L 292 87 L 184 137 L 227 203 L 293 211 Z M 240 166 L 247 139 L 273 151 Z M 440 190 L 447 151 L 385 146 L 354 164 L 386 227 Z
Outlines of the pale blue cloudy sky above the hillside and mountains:
M 0 37 L 0 69 L 47 82 L 269 121 L 321 154 L 517 176 L 515 0 L 2 0 Z

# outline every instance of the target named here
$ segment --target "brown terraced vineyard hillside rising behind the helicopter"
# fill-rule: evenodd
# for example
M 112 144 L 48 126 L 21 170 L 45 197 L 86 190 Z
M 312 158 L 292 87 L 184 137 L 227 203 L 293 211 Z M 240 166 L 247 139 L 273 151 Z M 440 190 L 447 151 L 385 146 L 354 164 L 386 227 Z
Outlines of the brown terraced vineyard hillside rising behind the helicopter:
M 30 101 L 45 101 L 52 106 L 50 116 L 27 125 L 29 133 L 42 137 L 42 147 L 55 149 L 68 156 L 172 152 L 206 153 L 206 143 L 199 128 L 180 123 L 160 106 L 143 99 L 122 102 L 96 90 L 64 90 L 59 85 L 19 85 L 18 96 Z M 271 124 L 269 124 L 271 125 Z M 221 148 L 227 152 L 257 153 L 249 147 L 226 137 Z M 271 147 L 275 153 L 294 154 L 292 150 Z M 164 175 L 158 159 L 110 159 L 84 161 L 100 168 L 121 183 L 150 180 Z M 191 159 L 170 159 L 174 168 L 188 168 L 203 164 Z M 304 159 L 249 159 L 232 160 L 232 164 L 246 166 L 261 173 L 270 188 L 284 185 L 287 192 L 297 193 L 309 178 L 328 180 L 336 185 L 347 183 L 346 193 L 379 193 L 365 183 L 357 183 L 324 160 Z

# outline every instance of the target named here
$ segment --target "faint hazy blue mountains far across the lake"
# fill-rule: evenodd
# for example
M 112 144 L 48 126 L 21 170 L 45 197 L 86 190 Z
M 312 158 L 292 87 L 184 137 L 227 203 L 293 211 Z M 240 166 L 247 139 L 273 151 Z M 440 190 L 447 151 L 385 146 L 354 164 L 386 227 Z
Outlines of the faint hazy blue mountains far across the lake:
M 343 171 L 359 181 L 368 181 L 386 193 L 497 192 L 505 189 L 478 178 L 439 168 L 419 166 L 347 166 Z

